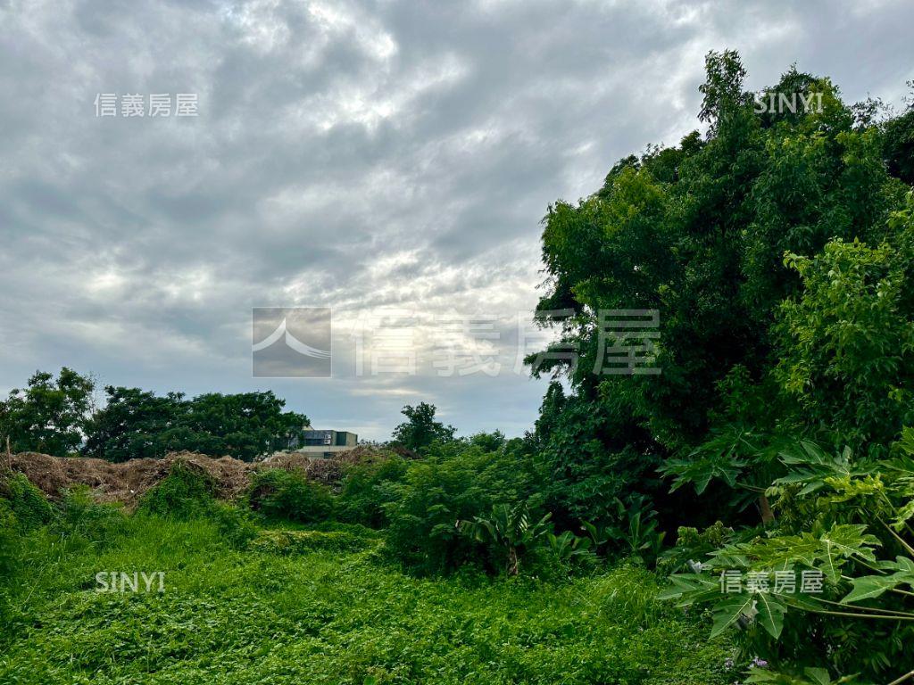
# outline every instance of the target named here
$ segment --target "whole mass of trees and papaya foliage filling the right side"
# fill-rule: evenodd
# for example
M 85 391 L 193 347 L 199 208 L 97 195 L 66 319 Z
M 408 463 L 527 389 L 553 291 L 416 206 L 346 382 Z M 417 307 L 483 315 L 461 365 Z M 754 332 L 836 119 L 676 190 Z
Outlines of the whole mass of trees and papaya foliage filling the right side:
M 528 362 L 570 392 L 549 388 L 537 459 L 567 516 L 599 507 L 580 493 L 640 492 L 684 526 L 661 554 L 680 572 L 667 595 L 714 607 L 713 632 L 736 630 L 769 666 L 750 681 L 901 682 L 914 670 L 914 108 L 847 105 L 795 68 L 757 100 L 745 76 L 735 53 L 709 54 L 707 135 L 623 159 L 594 195 L 549 208 L 538 309 L 561 336 Z M 802 106 L 758 106 L 781 94 Z M 607 345 L 632 345 L 607 333 L 614 310 L 659 313 L 643 360 L 659 373 L 600 373 Z M 709 513 L 727 525 L 699 532 Z M 760 585 L 778 572 L 821 572 L 822 591 Z M 759 584 L 727 594 L 728 573 Z

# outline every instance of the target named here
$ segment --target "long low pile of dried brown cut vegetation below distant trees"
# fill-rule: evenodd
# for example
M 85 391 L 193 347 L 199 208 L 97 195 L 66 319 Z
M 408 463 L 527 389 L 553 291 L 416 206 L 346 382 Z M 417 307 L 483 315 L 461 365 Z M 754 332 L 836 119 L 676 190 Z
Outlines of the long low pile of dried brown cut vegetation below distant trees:
M 350 464 L 371 464 L 390 458 L 377 448 L 357 447 L 333 458 L 314 458 L 294 452 L 272 456 L 260 463 L 236 458 L 212 458 L 195 452 L 171 452 L 162 459 L 130 459 L 112 463 L 96 458 L 51 457 L 38 452 L 20 452 L 4 458 L 13 471 L 25 474 L 49 498 L 58 499 L 69 487 L 89 486 L 97 501 L 119 501 L 133 508 L 147 490 L 161 482 L 175 463 L 206 472 L 221 500 L 234 500 L 250 485 L 254 471 L 284 469 L 303 471 L 310 480 L 337 486 Z

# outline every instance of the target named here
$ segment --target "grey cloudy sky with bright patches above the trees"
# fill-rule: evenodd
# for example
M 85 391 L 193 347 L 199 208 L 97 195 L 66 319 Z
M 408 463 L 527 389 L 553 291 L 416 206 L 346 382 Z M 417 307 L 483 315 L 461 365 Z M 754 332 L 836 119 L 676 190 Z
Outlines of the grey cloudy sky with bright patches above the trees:
M 547 205 L 695 129 L 709 49 L 753 90 L 795 61 L 899 105 L 911 26 L 909 0 L 0 0 L 0 391 L 69 365 L 272 389 L 361 437 L 423 400 L 519 435 Z M 197 116 L 99 116 L 100 93 Z M 256 306 L 330 307 L 334 377 L 252 377 Z M 394 320 L 413 358 L 373 373 Z

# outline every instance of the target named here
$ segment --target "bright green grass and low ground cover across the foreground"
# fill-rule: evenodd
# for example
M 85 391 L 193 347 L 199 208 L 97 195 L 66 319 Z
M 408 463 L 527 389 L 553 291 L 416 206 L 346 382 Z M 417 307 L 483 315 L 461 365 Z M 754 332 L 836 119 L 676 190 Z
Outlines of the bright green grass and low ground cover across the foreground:
M 422 579 L 384 564 L 360 527 L 260 532 L 239 550 L 207 519 L 143 515 L 103 541 L 42 529 L 28 542 L 0 627 L 4 684 L 732 680 L 727 643 L 657 603 L 637 568 Z M 100 593 L 100 571 L 163 571 L 165 592 Z

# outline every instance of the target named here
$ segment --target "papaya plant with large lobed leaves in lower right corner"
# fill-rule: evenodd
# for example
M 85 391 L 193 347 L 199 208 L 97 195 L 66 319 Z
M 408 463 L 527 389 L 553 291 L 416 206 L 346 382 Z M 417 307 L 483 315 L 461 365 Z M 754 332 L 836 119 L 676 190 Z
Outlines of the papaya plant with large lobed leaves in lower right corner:
M 794 679 L 771 680 L 775 669 L 749 682 L 914 678 L 914 432 L 906 428 L 891 451 L 856 458 L 810 441 L 783 450 L 785 475 L 766 494 L 790 515 L 707 553 L 700 570 L 673 574 L 661 596 L 710 606 L 712 636 L 736 629 L 747 652 Z

